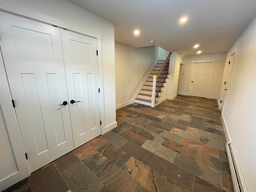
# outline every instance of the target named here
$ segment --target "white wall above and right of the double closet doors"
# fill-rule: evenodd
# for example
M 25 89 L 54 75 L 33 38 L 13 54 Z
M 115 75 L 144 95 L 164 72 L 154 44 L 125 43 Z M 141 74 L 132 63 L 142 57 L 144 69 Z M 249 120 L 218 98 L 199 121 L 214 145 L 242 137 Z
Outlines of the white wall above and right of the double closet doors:
M 0 8 L 102 40 L 103 133 L 116 126 L 114 25 L 66 0 L 1 0 Z M 102 71 L 100 72 L 102 73 Z M 103 87 L 104 84 L 104 87 Z M 103 93 L 102 93 L 103 94 Z M 104 128 L 105 127 L 105 128 Z

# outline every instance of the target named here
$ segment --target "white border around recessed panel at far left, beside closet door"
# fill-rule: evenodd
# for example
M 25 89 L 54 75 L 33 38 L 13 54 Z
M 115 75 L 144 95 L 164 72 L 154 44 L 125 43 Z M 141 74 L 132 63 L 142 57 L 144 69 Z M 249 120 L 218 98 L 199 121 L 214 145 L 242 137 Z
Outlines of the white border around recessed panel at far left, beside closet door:
M 4 62 L 2 58 L 2 52 L 0 51 L 0 108 L 4 115 L 4 121 L 6 124 L 7 132 L 12 146 L 14 155 L 14 161 L 16 161 L 17 172 L 12 175 L 6 176 L 3 180 L 0 180 L 0 191 L 12 186 L 16 182 L 28 177 L 30 170 L 28 168 L 28 162 L 25 158 L 25 149 L 23 146 L 20 128 L 16 118 L 15 109 L 12 106 L 12 95 L 10 92 Z M 0 154 L 1 156 L 6 154 Z

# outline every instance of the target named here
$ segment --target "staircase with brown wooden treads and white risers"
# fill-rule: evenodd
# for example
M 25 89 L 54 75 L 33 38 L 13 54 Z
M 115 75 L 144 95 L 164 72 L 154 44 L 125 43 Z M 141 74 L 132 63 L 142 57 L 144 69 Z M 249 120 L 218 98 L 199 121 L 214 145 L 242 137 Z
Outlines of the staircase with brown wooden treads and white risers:
M 158 62 L 150 72 L 148 78 L 146 79 L 143 85 L 143 88 L 140 90 L 140 93 L 137 95 L 137 98 L 135 98 L 136 103 L 140 103 L 148 106 L 156 106 L 156 103 L 161 99 L 160 97 L 163 93 L 163 90 L 168 80 L 170 54 L 168 55 L 166 60 L 158 60 Z M 154 79 L 153 76 L 158 76 L 158 77 L 155 77 Z M 153 80 L 155 82 L 153 82 Z M 154 85 L 155 85 L 155 88 L 154 88 Z M 152 99 L 152 95 L 155 98 Z M 154 103 L 152 104 L 152 102 Z

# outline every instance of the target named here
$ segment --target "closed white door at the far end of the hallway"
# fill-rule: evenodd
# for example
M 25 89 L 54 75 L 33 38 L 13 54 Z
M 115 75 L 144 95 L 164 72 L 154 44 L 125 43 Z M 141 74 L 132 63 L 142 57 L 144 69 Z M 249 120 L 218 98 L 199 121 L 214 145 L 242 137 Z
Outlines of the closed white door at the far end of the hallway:
M 209 96 L 215 62 L 193 62 L 190 71 L 190 95 Z

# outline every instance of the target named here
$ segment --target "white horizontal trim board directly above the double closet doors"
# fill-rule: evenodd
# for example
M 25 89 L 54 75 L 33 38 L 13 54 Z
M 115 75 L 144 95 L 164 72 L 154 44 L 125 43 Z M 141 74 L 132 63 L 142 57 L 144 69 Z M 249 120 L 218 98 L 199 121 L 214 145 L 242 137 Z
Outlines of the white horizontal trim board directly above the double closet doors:
M 36 12 L 27 8 L 24 8 L 22 6 L 18 6 L 16 4 L 13 4 L 11 2 L 8 2 L 8 0 L 1 0 L 1 8 L 0 10 L 4 12 L 8 12 L 17 16 L 22 16 L 31 20 L 35 20 L 38 22 L 42 22 L 49 25 L 55 25 L 60 28 L 68 29 L 72 32 L 78 32 L 80 34 L 84 34 L 86 36 L 102 39 L 102 34 L 98 34 L 97 32 L 92 32 L 86 28 L 81 30 L 77 26 L 74 26 L 73 24 L 64 22 L 62 20 L 56 19 L 54 17 L 42 14 L 40 12 Z

